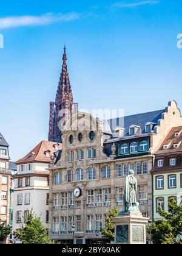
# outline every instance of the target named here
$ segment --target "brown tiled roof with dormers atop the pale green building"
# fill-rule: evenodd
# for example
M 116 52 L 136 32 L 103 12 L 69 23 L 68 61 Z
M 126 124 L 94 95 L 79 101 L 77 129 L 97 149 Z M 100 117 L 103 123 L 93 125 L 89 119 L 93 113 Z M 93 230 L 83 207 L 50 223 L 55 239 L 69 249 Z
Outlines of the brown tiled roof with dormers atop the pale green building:
M 175 132 L 179 132 L 177 137 L 174 136 Z M 174 148 L 174 144 L 178 144 L 178 147 Z M 168 147 L 164 148 L 164 145 L 168 145 Z M 182 126 L 173 127 L 170 130 L 155 155 L 172 154 L 178 152 L 182 153 Z

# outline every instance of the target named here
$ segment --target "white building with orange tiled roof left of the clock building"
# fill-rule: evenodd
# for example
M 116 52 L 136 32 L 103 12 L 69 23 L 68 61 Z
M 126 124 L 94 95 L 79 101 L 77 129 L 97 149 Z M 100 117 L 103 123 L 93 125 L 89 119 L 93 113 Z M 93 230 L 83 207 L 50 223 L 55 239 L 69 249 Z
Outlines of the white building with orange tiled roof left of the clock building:
M 48 228 L 49 222 L 49 167 L 50 155 L 56 154 L 61 144 L 41 141 L 29 154 L 16 162 L 17 173 L 13 175 L 13 231 L 32 211 L 41 217 Z M 19 243 L 14 239 L 15 243 Z

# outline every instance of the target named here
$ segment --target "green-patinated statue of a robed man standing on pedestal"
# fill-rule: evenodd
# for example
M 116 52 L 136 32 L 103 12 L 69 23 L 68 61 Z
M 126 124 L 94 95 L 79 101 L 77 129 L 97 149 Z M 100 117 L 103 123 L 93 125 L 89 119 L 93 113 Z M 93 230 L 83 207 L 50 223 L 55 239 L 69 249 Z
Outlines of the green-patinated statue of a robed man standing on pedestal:
M 136 191 L 137 180 L 134 177 L 134 171 L 129 170 L 129 175 L 126 176 L 124 186 L 124 203 L 126 212 L 130 210 L 132 207 L 138 206 L 136 202 Z

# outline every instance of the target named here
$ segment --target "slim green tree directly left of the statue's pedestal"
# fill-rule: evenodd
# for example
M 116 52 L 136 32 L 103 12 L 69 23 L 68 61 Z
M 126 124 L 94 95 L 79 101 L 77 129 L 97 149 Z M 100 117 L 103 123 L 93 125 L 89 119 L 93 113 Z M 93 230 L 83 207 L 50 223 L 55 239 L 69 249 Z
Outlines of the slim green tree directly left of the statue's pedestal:
M 109 210 L 108 215 L 106 216 L 106 228 L 101 230 L 102 235 L 108 240 L 112 241 L 115 237 L 115 226 L 112 222 L 113 217 L 117 217 L 119 212 L 117 208 Z

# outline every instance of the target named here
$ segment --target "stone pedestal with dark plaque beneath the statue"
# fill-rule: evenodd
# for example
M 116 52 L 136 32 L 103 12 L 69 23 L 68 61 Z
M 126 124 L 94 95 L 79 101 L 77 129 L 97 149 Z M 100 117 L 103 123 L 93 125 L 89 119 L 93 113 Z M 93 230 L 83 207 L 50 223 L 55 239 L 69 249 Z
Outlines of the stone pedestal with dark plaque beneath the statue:
M 122 215 L 112 218 L 115 224 L 115 244 L 146 244 L 146 224 L 142 215 Z

